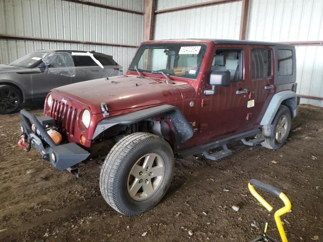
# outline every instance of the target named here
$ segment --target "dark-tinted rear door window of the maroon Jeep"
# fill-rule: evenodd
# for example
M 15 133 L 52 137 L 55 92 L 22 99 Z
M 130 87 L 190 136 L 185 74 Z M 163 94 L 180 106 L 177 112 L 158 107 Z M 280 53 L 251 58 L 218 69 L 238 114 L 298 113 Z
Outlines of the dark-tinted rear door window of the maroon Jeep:
M 270 77 L 272 75 L 272 50 L 251 50 L 252 79 Z

